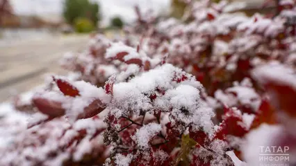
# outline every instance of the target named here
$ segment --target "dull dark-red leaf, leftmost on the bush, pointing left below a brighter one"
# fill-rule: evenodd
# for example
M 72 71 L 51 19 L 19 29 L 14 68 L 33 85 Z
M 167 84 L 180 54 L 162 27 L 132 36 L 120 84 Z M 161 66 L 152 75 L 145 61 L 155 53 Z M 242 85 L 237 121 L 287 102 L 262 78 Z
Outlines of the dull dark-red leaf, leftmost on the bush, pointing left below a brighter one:
M 51 118 L 60 117 L 65 115 L 65 109 L 62 107 L 61 102 L 56 102 L 44 98 L 33 98 L 33 104 L 38 110 Z

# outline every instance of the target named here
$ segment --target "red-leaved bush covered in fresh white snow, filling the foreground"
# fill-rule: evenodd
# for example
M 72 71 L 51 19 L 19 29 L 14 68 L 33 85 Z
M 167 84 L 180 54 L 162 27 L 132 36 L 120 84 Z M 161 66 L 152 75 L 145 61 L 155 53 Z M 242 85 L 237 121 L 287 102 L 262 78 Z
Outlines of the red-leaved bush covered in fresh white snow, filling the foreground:
M 272 17 L 186 2 L 182 20 L 136 8 L 123 37 L 65 55 L 74 79 L 15 98 L 31 118 L 0 165 L 258 165 L 261 146 L 295 156 L 295 2 Z

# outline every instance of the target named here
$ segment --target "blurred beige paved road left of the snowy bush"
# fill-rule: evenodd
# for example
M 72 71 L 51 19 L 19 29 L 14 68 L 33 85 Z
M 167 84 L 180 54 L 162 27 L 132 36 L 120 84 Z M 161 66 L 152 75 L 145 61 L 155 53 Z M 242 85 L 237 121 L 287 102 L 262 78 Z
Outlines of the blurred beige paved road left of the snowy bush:
M 44 74 L 65 74 L 58 64 L 67 51 L 79 51 L 88 35 L 46 37 L 0 44 L 0 102 L 44 82 Z

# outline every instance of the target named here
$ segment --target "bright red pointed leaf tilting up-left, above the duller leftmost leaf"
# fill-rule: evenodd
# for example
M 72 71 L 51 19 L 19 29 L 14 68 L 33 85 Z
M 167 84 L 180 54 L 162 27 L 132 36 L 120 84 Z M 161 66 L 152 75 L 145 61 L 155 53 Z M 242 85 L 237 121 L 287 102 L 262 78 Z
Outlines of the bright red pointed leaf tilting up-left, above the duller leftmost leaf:
M 58 89 L 60 89 L 60 91 L 63 92 L 64 95 L 69 95 L 72 97 L 80 95 L 78 89 L 72 86 L 72 84 L 70 84 L 69 82 L 61 79 L 56 79 L 55 77 L 54 82 L 56 82 L 56 84 L 58 85 Z

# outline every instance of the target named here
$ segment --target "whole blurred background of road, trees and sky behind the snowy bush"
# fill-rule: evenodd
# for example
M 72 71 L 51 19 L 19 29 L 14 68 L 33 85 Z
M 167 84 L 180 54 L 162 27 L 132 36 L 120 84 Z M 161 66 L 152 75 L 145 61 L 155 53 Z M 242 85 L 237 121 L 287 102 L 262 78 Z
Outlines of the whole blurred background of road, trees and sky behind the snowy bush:
M 217 1 L 217 0 L 213 0 Z M 263 0 L 233 0 L 252 15 Z M 0 102 L 43 82 L 44 74 L 65 71 L 58 60 L 79 51 L 92 33 L 114 36 L 136 19 L 135 6 L 156 17 L 180 18 L 177 0 L 0 0 Z

